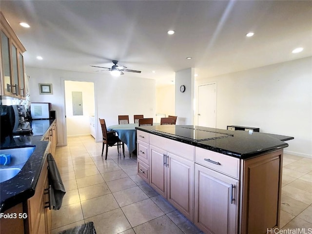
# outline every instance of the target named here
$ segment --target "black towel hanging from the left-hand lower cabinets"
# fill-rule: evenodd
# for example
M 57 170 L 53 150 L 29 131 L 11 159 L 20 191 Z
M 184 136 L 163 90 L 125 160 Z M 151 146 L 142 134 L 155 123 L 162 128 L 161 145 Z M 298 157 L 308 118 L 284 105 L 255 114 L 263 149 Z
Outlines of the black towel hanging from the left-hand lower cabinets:
M 49 184 L 51 185 L 51 194 L 50 197 L 50 207 L 53 210 L 59 210 L 62 206 L 63 196 L 65 195 L 65 187 L 62 182 L 62 178 L 59 174 L 59 169 L 57 163 L 55 162 L 52 154 L 48 154 L 48 174 L 49 174 Z

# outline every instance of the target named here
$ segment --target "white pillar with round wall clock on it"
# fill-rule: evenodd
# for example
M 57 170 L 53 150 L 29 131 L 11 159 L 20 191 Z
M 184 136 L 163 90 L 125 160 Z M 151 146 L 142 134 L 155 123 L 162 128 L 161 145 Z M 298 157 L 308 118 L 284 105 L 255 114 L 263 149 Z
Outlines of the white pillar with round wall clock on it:
M 176 124 L 194 124 L 194 68 L 176 72 Z M 185 92 L 180 86 L 185 85 Z

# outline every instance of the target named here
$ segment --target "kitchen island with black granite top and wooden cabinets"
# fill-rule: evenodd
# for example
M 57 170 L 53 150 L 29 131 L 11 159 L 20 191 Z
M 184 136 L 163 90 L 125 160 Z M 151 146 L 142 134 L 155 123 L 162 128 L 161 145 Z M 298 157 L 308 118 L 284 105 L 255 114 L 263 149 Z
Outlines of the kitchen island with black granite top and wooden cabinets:
M 137 173 L 204 233 L 267 233 L 279 226 L 290 139 L 192 125 L 137 127 Z

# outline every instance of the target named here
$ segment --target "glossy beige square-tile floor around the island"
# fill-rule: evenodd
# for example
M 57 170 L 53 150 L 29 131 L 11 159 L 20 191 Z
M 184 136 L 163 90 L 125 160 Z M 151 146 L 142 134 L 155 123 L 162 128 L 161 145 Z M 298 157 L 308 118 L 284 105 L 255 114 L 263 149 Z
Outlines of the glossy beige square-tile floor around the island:
M 102 143 L 70 137 L 55 159 L 66 195 L 52 212 L 52 234 L 93 221 L 97 234 L 202 233 L 137 176 L 137 157 L 117 147 L 101 157 Z M 104 153 L 105 154 L 105 153 Z M 284 155 L 281 227 L 312 228 L 312 159 Z

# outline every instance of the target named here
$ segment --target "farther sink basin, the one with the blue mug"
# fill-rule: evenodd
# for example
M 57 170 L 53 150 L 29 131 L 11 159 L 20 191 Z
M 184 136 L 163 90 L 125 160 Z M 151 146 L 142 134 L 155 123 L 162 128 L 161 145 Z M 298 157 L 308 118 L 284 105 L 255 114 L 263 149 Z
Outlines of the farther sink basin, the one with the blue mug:
M 17 166 L 20 164 L 25 164 L 28 158 L 33 154 L 36 147 L 23 147 L 14 149 L 0 150 L 1 155 L 11 155 L 11 162 L 7 164 L 6 167 Z M 23 166 L 23 165 L 22 165 Z M 3 168 L 3 165 L 1 165 Z

